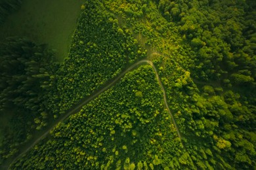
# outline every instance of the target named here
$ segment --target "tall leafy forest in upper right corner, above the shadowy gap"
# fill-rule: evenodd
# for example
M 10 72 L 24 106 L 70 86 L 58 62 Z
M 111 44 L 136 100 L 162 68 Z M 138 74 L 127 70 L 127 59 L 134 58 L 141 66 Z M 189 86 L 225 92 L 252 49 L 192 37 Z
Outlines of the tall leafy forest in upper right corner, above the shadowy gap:
M 194 56 L 200 79 L 249 69 L 255 76 L 255 3 L 245 1 L 160 1 L 159 10 L 177 23 Z M 172 12 L 172 11 L 177 12 Z M 178 12 L 179 11 L 179 12 Z M 168 16 L 166 14 L 168 13 Z M 231 64 L 232 63 L 232 64 Z M 194 66 L 193 66 L 194 67 Z

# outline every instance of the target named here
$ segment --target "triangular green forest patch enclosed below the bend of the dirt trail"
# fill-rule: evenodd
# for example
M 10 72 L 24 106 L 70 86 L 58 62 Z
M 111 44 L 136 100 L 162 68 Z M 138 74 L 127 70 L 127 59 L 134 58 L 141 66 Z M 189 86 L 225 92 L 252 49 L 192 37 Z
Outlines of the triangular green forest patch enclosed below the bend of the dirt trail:
M 13 169 L 168 169 L 192 163 L 150 65 L 127 73 L 51 132 Z

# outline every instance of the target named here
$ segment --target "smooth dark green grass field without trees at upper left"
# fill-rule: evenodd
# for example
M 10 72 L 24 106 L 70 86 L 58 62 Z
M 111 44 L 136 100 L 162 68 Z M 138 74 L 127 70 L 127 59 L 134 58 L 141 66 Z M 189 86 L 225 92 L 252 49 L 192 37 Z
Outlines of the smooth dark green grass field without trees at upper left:
M 0 26 L 0 39 L 25 36 L 35 42 L 47 43 L 56 50 L 58 61 L 62 61 L 68 56 L 82 4 L 83 0 L 24 0 L 20 10 Z

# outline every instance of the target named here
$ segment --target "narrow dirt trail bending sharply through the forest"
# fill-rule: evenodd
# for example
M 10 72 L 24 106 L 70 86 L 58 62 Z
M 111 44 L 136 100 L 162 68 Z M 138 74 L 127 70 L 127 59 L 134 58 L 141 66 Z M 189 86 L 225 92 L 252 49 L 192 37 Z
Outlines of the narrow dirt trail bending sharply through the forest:
M 106 86 L 104 86 L 103 88 L 100 88 L 100 90 L 98 90 L 97 92 L 93 93 L 92 95 L 90 95 L 89 97 L 86 97 L 85 99 L 81 100 L 74 108 L 72 108 L 71 110 L 68 110 L 68 112 L 66 112 L 66 114 L 64 116 L 62 116 L 62 118 L 60 118 L 59 120 L 57 120 L 53 125 L 51 125 L 50 127 L 47 128 L 47 131 L 45 131 L 45 133 L 43 133 L 43 135 L 37 137 L 37 139 L 35 139 L 34 141 L 31 141 L 30 144 L 28 146 L 26 146 L 25 148 L 22 149 L 22 151 L 20 152 L 20 154 L 18 154 L 18 156 L 16 156 L 13 160 L 9 161 L 9 163 L 7 163 L 7 165 L 3 165 L 2 168 L 3 169 L 10 169 L 12 163 L 14 163 L 16 160 L 18 160 L 19 158 L 21 158 L 22 156 L 24 156 L 24 154 L 26 154 L 26 152 L 28 152 L 31 148 L 33 148 L 33 146 L 35 146 L 35 144 L 37 144 L 39 141 L 41 141 L 41 139 L 45 138 L 47 135 L 49 135 L 50 131 L 54 129 L 54 127 L 56 127 L 57 124 L 59 124 L 60 122 L 62 122 L 63 120 L 65 120 L 66 118 L 68 118 L 70 115 L 75 114 L 77 112 L 79 112 L 79 110 L 82 109 L 82 107 L 84 105 L 86 105 L 87 103 L 89 103 L 91 100 L 95 99 L 96 97 L 98 97 L 98 95 L 100 95 L 100 93 L 105 92 L 106 90 L 108 90 L 109 88 L 111 88 L 114 84 L 116 84 L 116 82 L 118 80 L 120 80 L 126 73 L 128 73 L 129 71 L 131 71 L 132 69 L 135 69 L 135 67 L 137 67 L 140 64 L 143 63 L 148 63 L 155 72 L 156 78 L 158 79 L 158 82 L 161 86 L 161 90 L 163 91 L 163 100 L 165 103 L 165 107 L 167 108 L 167 111 L 169 112 L 169 115 L 171 116 L 171 119 L 173 121 L 173 125 L 175 126 L 175 129 L 177 130 L 177 135 L 179 136 L 179 138 L 181 139 L 181 133 L 179 132 L 179 128 L 177 127 L 177 124 L 175 122 L 174 116 L 171 113 L 171 110 L 169 109 L 169 105 L 167 103 L 167 97 L 166 97 L 166 92 L 165 89 L 163 88 L 163 84 L 161 83 L 160 77 L 158 75 L 158 71 L 154 65 L 154 63 L 148 59 L 142 59 L 140 61 L 137 61 L 136 63 L 134 63 L 133 65 L 131 65 L 130 67 L 128 67 L 125 71 L 123 71 L 123 73 L 121 73 L 120 75 L 118 75 L 116 78 L 114 78 L 110 83 L 106 84 Z

